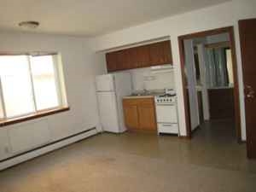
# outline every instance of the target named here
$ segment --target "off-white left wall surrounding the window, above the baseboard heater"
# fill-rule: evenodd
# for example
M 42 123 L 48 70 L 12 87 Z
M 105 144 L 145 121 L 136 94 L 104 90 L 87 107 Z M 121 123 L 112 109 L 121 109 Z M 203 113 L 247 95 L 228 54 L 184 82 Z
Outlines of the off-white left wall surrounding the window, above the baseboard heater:
M 90 39 L 65 36 L 0 33 L 0 51 L 61 53 L 70 111 L 1 128 L 11 137 L 14 153 L 68 137 L 99 124 L 95 75 L 104 72 L 102 57 L 90 49 Z M 36 130 L 36 131 L 35 131 Z M 1 133 L 1 134 L 2 134 Z M 38 142 L 38 143 L 37 143 Z M 24 145 L 24 146 L 22 146 Z M 16 148 L 17 147 L 17 148 Z M 13 155 L 13 154 L 10 154 Z M 0 159 L 2 157 L 0 156 Z

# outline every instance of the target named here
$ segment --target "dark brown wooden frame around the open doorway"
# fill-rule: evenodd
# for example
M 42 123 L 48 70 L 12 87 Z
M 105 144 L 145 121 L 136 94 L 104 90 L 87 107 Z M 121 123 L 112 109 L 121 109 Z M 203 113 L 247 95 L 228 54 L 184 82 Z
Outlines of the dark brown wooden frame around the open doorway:
M 186 90 L 186 77 L 185 77 L 185 51 L 183 41 L 191 38 L 203 38 L 206 36 L 217 35 L 220 33 L 228 33 L 230 38 L 230 49 L 233 61 L 233 74 L 234 74 L 234 104 L 235 104 L 235 121 L 236 121 L 236 137 L 237 142 L 241 143 L 241 111 L 240 111 L 240 96 L 239 96 L 239 85 L 238 85 L 238 74 L 237 74 L 237 62 L 236 62 L 236 43 L 234 36 L 234 26 L 226 26 L 213 30 L 194 32 L 187 35 L 178 37 L 178 47 L 180 54 L 180 65 L 182 72 L 182 84 L 183 84 L 183 103 L 185 109 L 185 123 L 187 130 L 187 138 L 192 138 L 192 130 L 189 118 L 189 96 Z

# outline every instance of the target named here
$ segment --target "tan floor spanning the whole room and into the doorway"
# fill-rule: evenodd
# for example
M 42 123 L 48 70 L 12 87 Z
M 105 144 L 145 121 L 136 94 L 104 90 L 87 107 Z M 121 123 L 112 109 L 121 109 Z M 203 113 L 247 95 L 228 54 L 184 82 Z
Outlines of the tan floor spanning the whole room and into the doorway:
M 100 134 L 0 172 L 0 192 L 255 192 L 256 162 L 230 127 L 205 124 L 191 141 Z

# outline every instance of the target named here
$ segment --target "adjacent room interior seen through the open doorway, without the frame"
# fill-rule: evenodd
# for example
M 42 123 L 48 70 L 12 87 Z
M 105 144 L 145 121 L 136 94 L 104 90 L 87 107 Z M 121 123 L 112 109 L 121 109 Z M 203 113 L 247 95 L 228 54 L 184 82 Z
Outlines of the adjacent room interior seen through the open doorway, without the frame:
M 236 61 L 232 61 L 231 53 L 236 50 L 231 48 L 229 32 L 205 33 L 200 38 L 183 40 L 186 82 L 183 85 L 188 97 L 190 129 L 193 133 L 201 128 L 198 134 L 212 139 L 223 137 L 226 141 L 230 139 L 230 143 L 239 142 L 241 127 L 236 118 L 240 119 L 240 114 L 235 115 L 239 111 L 235 108 Z

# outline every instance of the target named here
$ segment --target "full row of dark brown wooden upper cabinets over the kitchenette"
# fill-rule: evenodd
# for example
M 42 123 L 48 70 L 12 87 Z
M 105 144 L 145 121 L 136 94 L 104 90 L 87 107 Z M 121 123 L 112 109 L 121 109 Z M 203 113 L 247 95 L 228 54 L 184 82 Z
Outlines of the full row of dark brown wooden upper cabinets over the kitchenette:
M 162 41 L 106 54 L 108 72 L 172 64 L 171 42 Z

